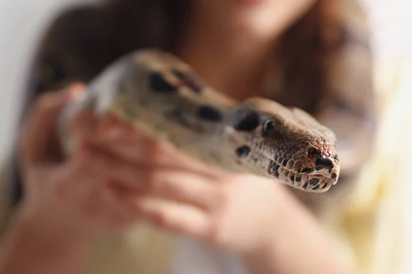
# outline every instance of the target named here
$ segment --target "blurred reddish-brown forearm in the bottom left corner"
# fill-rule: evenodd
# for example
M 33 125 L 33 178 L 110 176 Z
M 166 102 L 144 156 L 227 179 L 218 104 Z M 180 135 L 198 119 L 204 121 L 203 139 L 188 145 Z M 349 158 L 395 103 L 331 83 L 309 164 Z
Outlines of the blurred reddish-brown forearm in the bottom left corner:
M 83 239 L 41 224 L 17 213 L 3 235 L 0 274 L 73 274 L 80 272 L 89 251 Z

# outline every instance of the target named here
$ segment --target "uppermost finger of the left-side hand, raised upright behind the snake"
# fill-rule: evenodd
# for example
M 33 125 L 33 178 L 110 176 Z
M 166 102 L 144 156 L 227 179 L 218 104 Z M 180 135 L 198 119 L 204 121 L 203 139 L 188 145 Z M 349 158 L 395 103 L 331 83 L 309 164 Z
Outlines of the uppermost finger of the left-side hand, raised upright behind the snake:
M 50 160 L 51 145 L 56 138 L 57 115 L 71 99 L 71 92 L 77 92 L 81 85 L 68 88 L 67 92 L 49 92 L 43 95 L 33 107 L 23 129 L 23 160 L 38 162 Z

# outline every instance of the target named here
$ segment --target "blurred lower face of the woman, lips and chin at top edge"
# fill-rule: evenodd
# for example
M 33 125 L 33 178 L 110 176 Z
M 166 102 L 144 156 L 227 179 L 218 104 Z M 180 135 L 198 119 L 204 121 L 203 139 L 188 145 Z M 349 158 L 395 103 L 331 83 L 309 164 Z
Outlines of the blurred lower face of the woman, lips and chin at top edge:
M 211 24 L 266 37 L 293 24 L 316 0 L 195 0 L 195 14 Z M 196 18 L 195 18 L 196 20 Z M 203 21 L 204 22 L 204 21 Z

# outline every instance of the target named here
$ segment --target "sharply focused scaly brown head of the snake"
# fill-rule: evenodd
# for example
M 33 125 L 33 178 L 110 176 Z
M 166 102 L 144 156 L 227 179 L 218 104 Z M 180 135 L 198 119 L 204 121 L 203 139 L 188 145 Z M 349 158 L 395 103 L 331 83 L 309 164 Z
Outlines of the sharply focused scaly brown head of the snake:
M 268 175 L 308 192 L 325 192 L 336 184 L 336 136 L 307 112 L 251 98 L 233 109 L 228 123 L 231 134 L 253 151 L 248 160 Z

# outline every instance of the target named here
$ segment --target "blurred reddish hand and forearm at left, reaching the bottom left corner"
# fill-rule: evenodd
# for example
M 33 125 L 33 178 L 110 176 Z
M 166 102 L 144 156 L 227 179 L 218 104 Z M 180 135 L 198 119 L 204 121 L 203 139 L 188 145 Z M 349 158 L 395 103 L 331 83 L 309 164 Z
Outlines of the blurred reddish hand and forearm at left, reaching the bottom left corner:
M 122 179 L 130 163 L 107 155 L 108 147 L 118 145 L 110 141 L 119 128 L 108 126 L 113 119 L 79 113 L 71 121 L 78 145 L 73 157 L 62 155 L 57 117 L 83 89 L 75 84 L 43 95 L 27 116 L 21 138 L 23 199 L 1 242 L 0 273 L 78 273 L 95 236 L 139 221 L 128 202 L 139 192 L 137 184 Z M 121 128 L 133 132 L 128 125 Z M 100 166 L 111 169 L 111 177 Z

